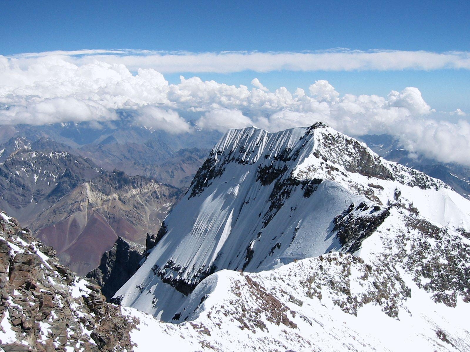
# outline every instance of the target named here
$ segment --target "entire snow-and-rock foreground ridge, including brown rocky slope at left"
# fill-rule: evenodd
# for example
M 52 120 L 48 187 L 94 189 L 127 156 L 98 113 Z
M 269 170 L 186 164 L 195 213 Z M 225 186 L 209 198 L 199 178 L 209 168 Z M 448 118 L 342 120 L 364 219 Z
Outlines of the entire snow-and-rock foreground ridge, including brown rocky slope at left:
M 356 208 L 348 214 L 371 214 Z M 0 212 L 0 351 L 147 352 L 156 341 L 181 352 L 468 351 L 470 241 L 398 204 L 389 212 L 363 241 L 366 259 L 339 252 L 257 274 L 218 271 L 188 296 L 179 324 L 104 302 Z M 404 233 L 395 220 L 420 221 Z M 425 270 L 436 265 L 446 280 Z

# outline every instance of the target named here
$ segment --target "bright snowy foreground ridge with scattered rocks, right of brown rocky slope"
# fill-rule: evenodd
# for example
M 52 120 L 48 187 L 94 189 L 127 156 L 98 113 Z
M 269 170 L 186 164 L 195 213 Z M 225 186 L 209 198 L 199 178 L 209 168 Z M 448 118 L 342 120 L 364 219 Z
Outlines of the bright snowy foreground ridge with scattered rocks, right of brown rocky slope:
M 360 257 L 328 253 L 208 276 L 175 314 L 178 324 L 123 307 L 140 319 L 135 350 L 158 336 L 179 351 L 468 351 L 470 240 L 399 204 L 388 212 Z M 371 212 L 361 203 L 348 214 Z

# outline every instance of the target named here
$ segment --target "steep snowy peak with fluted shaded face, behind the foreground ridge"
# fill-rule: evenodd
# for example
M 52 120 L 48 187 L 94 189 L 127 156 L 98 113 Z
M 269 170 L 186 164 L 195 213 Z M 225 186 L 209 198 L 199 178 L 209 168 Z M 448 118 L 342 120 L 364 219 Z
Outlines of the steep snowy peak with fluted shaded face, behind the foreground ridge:
M 203 290 L 201 281 L 216 271 L 273 270 L 330 251 L 354 253 L 373 266 L 391 255 L 391 245 L 384 245 L 393 241 L 387 234 L 401 236 L 410 229 L 424 238 L 446 233 L 467 244 L 470 201 L 322 123 L 278 133 L 229 130 L 186 198 L 166 217 L 148 259 L 115 299 L 164 321 L 191 320 L 202 302 L 191 292 Z M 415 253 L 410 246 L 397 251 Z M 455 248 L 449 256 L 460 258 L 460 264 L 468 260 L 466 253 L 452 252 Z M 420 253 L 412 260 L 423 264 Z M 399 265 L 407 268 L 404 258 Z M 420 281 L 423 273 L 409 275 L 414 284 L 426 284 Z M 426 292 L 452 306 L 459 294 L 468 295 L 468 282 L 461 281 L 458 287 L 433 286 Z

